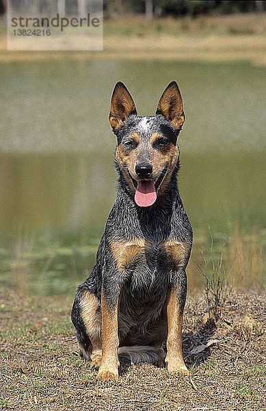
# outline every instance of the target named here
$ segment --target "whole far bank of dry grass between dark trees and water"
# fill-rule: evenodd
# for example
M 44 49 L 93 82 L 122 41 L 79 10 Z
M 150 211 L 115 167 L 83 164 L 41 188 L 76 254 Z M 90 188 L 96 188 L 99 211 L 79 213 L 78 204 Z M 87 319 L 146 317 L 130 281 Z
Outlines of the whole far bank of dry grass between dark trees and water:
M 266 12 L 151 22 L 143 16 L 127 16 L 104 21 L 103 51 L 8 51 L 3 18 L 0 28 L 2 63 L 164 60 L 266 66 Z M 72 46 L 75 44 L 78 47 L 78 36 L 72 36 Z

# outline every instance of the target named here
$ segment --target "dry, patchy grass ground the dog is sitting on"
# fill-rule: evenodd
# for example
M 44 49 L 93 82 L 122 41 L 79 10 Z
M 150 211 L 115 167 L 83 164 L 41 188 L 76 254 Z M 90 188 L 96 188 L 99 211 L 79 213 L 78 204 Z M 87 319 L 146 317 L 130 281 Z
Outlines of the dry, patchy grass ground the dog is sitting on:
M 79 358 L 71 299 L 0 294 L 0 410 L 262 410 L 265 402 L 263 295 L 227 292 L 220 319 L 189 297 L 183 351 L 190 377 L 148 364 L 123 366 L 119 381 L 98 382 Z M 218 342 L 198 353 L 193 349 Z M 199 350 L 199 349 L 198 349 Z

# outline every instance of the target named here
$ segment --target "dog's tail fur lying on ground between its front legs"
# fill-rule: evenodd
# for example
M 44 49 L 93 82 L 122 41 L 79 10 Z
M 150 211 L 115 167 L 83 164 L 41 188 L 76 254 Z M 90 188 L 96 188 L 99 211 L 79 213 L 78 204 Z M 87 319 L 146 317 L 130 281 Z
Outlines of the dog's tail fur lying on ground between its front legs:
M 119 361 L 126 364 L 131 364 L 132 362 L 133 364 L 138 364 L 139 362 L 157 364 L 160 356 L 162 356 L 162 349 L 150 347 L 149 345 L 133 345 L 118 349 Z

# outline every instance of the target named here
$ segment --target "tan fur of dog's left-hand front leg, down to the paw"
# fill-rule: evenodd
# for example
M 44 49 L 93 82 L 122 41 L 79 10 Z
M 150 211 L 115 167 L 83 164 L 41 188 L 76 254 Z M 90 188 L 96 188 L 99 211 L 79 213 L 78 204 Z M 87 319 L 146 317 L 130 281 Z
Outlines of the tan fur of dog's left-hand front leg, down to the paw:
M 107 306 L 102 295 L 103 355 L 97 378 L 118 379 L 118 303 L 114 309 Z

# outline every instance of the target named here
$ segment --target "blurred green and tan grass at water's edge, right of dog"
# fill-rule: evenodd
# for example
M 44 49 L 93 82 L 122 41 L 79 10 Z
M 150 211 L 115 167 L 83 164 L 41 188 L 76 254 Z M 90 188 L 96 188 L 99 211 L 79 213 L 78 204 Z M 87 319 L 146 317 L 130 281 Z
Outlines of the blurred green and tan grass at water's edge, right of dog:
M 248 232 L 249 231 L 249 232 Z M 187 274 L 191 289 L 207 284 L 211 295 L 219 304 L 219 293 L 224 284 L 231 287 L 265 287 L 266 280 L 266 231 L 256 226 L 241 227 L 230 223 L 228 233 L 216 234 L 209 239 L 196 232 Z M 209 242 L 209 246 L 207 245 Z M 202 281 L 203 279 L 203 281 Z M 217 305 L 213 302 L 213 305 Z

